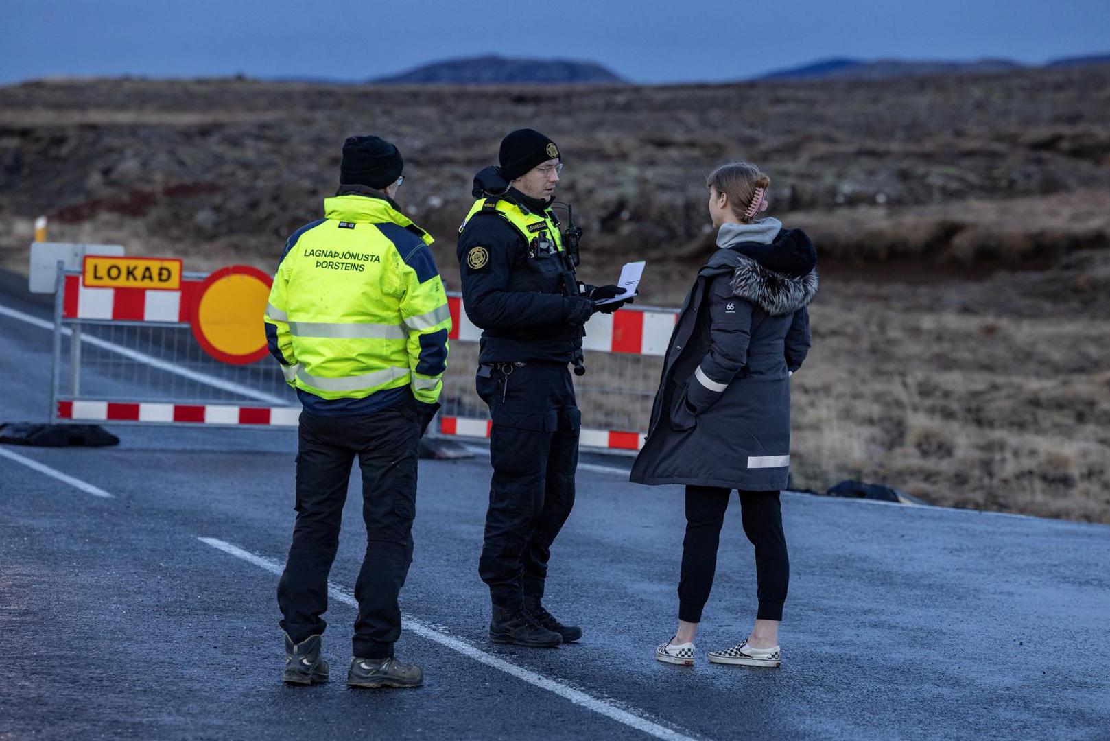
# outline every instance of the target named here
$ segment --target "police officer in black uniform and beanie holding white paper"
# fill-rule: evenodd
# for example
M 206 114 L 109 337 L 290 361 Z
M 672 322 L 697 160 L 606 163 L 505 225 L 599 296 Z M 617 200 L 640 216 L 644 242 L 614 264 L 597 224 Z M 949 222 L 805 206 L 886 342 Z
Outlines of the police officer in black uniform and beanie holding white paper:
M 574 505 L 582 415 L 567 366 L 582 364 L 594 300 L 619 290 L 575 279 L 551 208 L 563 170 L 555 142 L 519 129 L 500 160 L 475 176 L 457 250 L 463 306 L 483 330 L 477 392 L 493 420 L 478 573 L 493 601 L 491 639 L 552 647 L 582 637 L 542 603 L 551 545 Z

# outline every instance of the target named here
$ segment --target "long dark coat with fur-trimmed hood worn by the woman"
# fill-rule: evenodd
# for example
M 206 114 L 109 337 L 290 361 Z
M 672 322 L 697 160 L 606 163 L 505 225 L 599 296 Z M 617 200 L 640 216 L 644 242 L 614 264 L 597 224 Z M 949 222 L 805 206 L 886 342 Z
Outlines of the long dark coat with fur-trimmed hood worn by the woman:
M 719 249 L 698 271 L 670 337 L 632 481 L 749 491 L 787 485 L 789 374 L 809 351 L 806 306 L 817 293 L 816 264 L 805 232 L 784 229 L 771 244 Z

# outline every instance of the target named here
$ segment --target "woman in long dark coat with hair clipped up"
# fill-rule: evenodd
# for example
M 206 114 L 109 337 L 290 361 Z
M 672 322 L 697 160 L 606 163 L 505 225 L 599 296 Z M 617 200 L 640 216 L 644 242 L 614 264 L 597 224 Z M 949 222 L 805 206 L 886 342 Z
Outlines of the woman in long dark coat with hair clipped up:
M 632 481 L 686 485 L 678 630 L 656 658 L 693 665 L 733 489 L 755 545 L 759 609 L 747 639 L 709 661 L 778 667 L 789 561 L 779 490 L 790 465 L 790 383 L 809 351 L 817 254 L 805 232 L 757 219 L 770 179 L 739 162 L 708 178 L 717 251 L 686 296 Z

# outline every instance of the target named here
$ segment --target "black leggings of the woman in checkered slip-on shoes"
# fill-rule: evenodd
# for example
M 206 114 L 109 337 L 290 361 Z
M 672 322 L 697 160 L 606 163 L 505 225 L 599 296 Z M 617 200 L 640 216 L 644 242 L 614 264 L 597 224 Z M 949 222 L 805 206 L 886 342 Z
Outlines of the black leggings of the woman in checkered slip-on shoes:
M 678 582 L 678 619 L 702 622 L 702 609 L 713 589 L 717 569 L 717 544 L 725 522 L 729 489 L 686 487 L 686 539 L 683 572 Z M 777 491 L 740 491 L 744 534 L 756 547 L 758 620 L 781 620 L 783 602 L 790 580 L 783 513 Z

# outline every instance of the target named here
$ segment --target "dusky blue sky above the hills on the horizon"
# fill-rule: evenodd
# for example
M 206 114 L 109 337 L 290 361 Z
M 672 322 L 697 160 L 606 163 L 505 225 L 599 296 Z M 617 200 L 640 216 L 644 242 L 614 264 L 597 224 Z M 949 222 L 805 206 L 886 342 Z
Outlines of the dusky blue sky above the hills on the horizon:
M 500 53 L 601 62 L 635 82 L 749 78 L 828 57 L 1110 52 L 1106 0 L 3 0 L 0 83 L 56 76 L 389 74 Z

